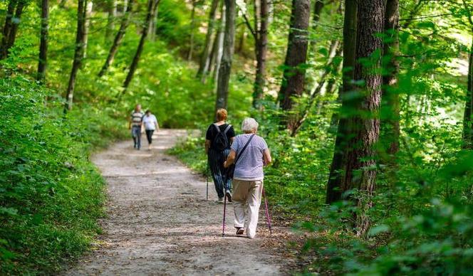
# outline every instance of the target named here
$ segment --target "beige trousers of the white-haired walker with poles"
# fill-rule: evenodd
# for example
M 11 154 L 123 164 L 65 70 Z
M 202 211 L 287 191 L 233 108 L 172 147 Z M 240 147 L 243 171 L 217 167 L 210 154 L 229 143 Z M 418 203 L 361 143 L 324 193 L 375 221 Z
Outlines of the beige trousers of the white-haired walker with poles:
M 246 235 L 249 238 L 254 238 L 256 235 L 256 226 L 258 225 L 263 181 L 243 181 L 234 179 L 232 184 L 235 228 L 245 228 Z

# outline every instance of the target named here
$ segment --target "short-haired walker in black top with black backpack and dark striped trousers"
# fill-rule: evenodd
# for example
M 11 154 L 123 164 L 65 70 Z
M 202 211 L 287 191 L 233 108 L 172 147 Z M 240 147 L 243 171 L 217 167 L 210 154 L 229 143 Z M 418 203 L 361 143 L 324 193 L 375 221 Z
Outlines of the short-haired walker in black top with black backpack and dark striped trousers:
M 230 153 L 235 131 L 232 124 L 225 122 L 227 115 L 227 110 L 217 110 L 217 122 L 210 124 L 205 134 L 205 152 L 220 203 L 223 203 L 224 196 L 232 201 L 232 179 L 227 179 L 224 161 Z

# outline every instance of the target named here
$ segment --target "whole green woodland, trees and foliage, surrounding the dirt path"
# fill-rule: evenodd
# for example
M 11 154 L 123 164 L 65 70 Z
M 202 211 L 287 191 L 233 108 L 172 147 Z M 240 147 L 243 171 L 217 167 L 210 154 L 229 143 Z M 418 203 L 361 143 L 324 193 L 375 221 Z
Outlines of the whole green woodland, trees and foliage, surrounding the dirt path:
M 473 271 L 471 0 L 2 0 L 0 272 L 90 248 L 88 156 L 141 103 L 204 130 L 261 123 L 301 272 Z M 172 149 L 205 173 L 204 138 Z M 196 157 L 197 156 L 197 157 Z M 291 245 L 288 245 L 291 246 Z

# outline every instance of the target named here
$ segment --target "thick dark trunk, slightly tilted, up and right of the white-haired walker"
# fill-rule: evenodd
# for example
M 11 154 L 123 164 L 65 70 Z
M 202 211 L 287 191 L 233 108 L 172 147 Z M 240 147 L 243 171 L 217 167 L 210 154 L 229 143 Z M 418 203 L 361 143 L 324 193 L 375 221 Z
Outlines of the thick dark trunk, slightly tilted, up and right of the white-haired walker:
M 305 87 L 308 23 L 310 21 L 310 0 L 293 0 L 291 29 L 287 46 L 284 73 L 279 91 L 279 102 L 283 110 L 291 110 L 292 97 L 302 95 Z M 289 122 L 288 127 L 290 127 Z

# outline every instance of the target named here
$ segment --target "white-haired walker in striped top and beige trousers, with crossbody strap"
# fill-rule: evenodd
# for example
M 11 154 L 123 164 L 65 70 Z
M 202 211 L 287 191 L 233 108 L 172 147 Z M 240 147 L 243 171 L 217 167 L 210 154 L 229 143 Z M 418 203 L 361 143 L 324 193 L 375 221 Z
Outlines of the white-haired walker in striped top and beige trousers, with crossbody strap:
M 244 134 L 237 136 L 232 144 L 232 150 L 224 162 L 227 168 L 234 164 L 233 176 L 233 208 L 235 213 L 234 226 L 237 235 L 254 238 L 258 225 L 259 206 L 263 193 L 263 167 L 271 163 L 271 153 L 262 137 L 256 135 L 258 122 L 246 118 L 241 123 Z

